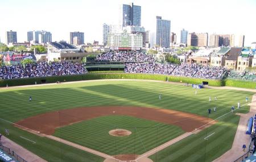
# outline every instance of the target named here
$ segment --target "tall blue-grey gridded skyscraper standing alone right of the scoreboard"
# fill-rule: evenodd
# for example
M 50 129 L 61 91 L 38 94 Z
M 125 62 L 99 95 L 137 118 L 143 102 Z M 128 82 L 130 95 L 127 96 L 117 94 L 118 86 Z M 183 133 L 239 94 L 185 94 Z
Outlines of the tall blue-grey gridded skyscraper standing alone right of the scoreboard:
M 170 48 L 171 21 L 163 20 L 161 16 L 156 16 L 156 45 Z

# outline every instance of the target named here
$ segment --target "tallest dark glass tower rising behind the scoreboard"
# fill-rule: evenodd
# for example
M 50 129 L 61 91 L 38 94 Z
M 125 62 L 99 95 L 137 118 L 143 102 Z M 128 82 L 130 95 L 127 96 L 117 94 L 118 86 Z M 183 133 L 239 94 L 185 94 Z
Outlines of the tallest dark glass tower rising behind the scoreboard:
M 125 26 L 141 26 L 141 6 L 121 5 L 120 23 Z

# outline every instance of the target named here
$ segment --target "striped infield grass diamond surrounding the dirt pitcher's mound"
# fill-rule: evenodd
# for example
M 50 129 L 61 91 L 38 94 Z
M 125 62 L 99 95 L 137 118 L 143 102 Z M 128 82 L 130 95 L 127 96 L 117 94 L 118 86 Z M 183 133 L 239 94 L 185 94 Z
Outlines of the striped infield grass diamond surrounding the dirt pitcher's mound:
M 123 137 L 109 135 L 109 131 L 115 129 L 129 130 L 132 134 Z M 183 133 L 177 126 L 110 115 L 57 128 L 54 135 L 108 155 L 141 155 Z

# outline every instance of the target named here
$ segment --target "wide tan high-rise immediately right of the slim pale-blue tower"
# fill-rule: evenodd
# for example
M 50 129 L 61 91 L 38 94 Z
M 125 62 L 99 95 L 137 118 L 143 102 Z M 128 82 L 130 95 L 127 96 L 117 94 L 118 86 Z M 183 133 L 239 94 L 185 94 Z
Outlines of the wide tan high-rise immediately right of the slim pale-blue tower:
M 197 34 L 195 32 L 189 33 L 187 38 L 188 46 L 207 47 L 208 33 Z

